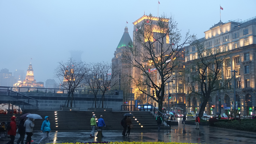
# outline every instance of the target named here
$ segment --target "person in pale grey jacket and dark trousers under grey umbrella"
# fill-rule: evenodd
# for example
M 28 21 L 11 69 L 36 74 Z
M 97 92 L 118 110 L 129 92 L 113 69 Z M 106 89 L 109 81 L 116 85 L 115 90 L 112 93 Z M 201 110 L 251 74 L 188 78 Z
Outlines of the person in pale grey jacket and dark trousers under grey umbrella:
M 24 127 L 26 129 L 26 134 L 27 134 L 25 144 L 31 144 L 31 136 L 33 135 L 32 132 L 33 132 L 33 128 L 35 126 L 34 121 L 35 121 L 34 118 L 28 118 L 24 123 Z

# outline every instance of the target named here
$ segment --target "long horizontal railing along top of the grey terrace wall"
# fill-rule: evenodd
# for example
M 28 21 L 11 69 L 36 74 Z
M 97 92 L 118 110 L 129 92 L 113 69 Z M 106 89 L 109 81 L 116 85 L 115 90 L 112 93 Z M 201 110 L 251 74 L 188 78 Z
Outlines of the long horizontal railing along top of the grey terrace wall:
M 37 93 L 68 93 L 66 89 L 31 88 L 31 87 L 6 87 L 0 86 L 0 90 L 11 90 L 13 92 L 37 92 Z M 92 90 L 76 89 L 74 94 L 93 94 Z M 102 95 L 102 91 L 98 91 Z M 105 95 L 119 95 L 118 91 L 106 91 Z

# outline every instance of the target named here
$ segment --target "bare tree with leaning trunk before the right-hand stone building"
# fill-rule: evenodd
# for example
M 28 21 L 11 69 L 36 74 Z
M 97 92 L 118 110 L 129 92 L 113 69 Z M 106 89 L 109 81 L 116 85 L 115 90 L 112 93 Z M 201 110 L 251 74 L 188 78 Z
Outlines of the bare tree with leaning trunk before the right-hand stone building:
M 204 42 L 195 41 L 191 46 L 195 47 L 196 58 L 187 62 L 186 76 L 190 77 L 188 84 L 188 98 L 197 96 L 201 100 L 199 117 L 204 114 L 205 107 L 211 94 L 217 91 L 231 89 L 229 84 L 231 79 L 223 76 L 226 69 L 224 65 L 228 52 L 223 51 L 221 47 L 209 49 Z

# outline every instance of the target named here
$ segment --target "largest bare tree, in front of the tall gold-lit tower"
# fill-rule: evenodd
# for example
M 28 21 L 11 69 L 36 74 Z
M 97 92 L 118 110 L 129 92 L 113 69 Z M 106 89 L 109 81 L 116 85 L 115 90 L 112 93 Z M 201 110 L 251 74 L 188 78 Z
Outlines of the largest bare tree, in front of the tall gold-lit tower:
M 164 88 L 178 64 L 176 59 L 178 52 L 185 44 L 189 44 L 194 36 L 186 33 L 184 41 L 181 42 L 182 37 L 176 21 L 172 17 L 167 18 L 164 14 L 159 18 L 150 14 L 136 27 L 134 44 L 131 42 L 123 52 L 122 62 L 138 69 L 139 79 L 144 81 L 148 89 L 155 90 L 156 97 L 150 90 L 144 91 L 138 87 L 139 91 L 155 100 L 159 110 L 162 111 Z M 154 72 L 149 72 L 152 68 L 160 75 L 159 80 L 155 79 Z M 137 79 L 133 77 L 135 85 Z

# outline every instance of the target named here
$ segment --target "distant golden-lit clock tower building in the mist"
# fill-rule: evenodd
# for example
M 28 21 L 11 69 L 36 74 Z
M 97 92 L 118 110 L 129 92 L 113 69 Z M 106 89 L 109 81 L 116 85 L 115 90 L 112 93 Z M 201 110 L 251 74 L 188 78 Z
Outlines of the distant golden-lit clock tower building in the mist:
M 27 75 L 26 75 L 26 79 L 23 80 L 23 82 L 21 82 L 19 84 L 19 82 L 17 82 L 16 84 L 14 84 L 14 86 L 17 87 L 42 87 L 44 88 L 44 83 L 43 82 L 37 82 L 34 79 L 34 70 L 32 68 L 31 63 L 28 66 L 28 70 L 27 70 Z

